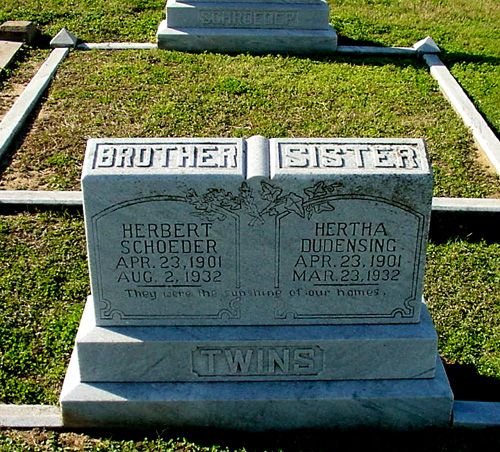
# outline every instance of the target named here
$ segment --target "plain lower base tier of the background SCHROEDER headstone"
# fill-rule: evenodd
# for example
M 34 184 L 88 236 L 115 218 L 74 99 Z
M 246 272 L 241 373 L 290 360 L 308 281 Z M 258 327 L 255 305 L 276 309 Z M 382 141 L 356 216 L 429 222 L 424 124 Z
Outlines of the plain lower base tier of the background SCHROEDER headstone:
M 325 30 L 170 28 L 161 22 L 158 48 L 188 52 L 250 52 L 296 55 L 330 54 L 337 49 L 337 33 Z

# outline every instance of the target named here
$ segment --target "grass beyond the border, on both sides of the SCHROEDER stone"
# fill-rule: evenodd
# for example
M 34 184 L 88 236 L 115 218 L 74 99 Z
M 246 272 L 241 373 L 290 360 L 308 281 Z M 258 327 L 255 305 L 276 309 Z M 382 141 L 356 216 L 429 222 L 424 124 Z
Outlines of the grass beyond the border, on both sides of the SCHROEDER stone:
M 33 20 L 54 36 L 66 27 L 87 42 L 155 40 L 165 0 L 3 0 L 0 22 Z M 497 0 L 332 0 L 341 44 L 411 46 L 427 35 L 444 51 L 496 131 L 500 131 L 500 5 Z M 464 65 L 467 67 L 464 70 Z M 482 74 L 479 76 L 478 74 Z

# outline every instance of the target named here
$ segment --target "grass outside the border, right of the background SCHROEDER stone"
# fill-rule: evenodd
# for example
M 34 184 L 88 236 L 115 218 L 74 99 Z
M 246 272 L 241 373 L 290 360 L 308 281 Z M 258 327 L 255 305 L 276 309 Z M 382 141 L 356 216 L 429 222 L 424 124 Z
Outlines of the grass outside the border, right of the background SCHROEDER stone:
M 412 46 L 432 36 L 452 74 L 500 133 L 497 0 L 332 0 L 330 8 L 341 43 Z

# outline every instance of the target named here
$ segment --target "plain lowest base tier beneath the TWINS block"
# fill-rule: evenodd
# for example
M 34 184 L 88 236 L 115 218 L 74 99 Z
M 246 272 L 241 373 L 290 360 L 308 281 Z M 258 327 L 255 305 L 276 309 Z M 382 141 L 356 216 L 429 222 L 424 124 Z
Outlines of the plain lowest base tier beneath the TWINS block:
M 446 427 L 453 395 L 441 362 L 433 379 L 82 383 L 73 354 L 61 393 L 65 427 L 289 430 Z

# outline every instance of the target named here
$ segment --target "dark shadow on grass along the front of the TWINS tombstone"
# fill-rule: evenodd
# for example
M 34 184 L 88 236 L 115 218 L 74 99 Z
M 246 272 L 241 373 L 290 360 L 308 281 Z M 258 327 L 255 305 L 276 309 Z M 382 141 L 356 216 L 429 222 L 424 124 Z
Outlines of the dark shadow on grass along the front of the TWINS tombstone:
M 156 430 L 156 431 L 83 431 L 93 439 L 114 441 L 149 441 L 161 439 L 172 449 L 198 451 L 498 451 L 500 429 L 427 429 L 419 431 L 353 430 L 295 430 L 290 432 L 250 433 L 226 430 Z M 172 441 L 172 443 L 171 443 Z M 177 442 L 177 444 L 175 444 Z M 194 447 L 193 447 L 194 446 Z M 161 449 L 164 450 L 164 449 Z

